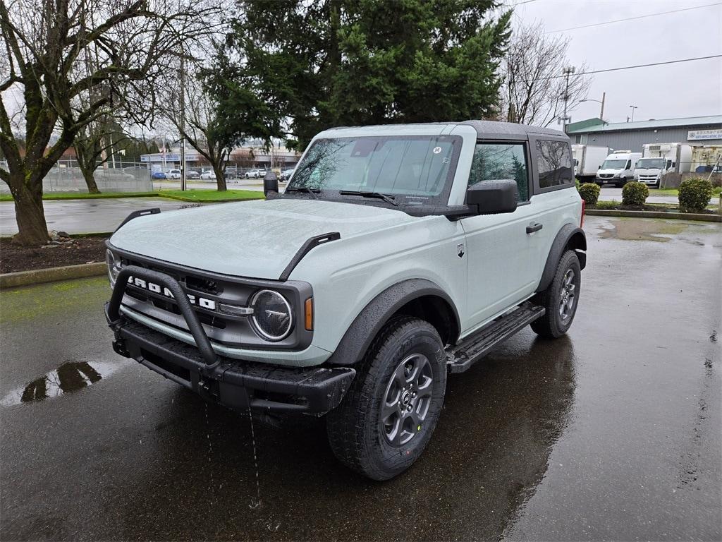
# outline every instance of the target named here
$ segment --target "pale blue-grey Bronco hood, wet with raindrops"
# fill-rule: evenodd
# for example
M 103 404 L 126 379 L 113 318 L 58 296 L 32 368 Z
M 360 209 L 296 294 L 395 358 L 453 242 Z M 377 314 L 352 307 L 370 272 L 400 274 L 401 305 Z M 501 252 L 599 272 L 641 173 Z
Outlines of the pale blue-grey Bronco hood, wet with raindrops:
M 308 238 L 340 241 L 419 220 L 406 213 L 313 199 L 206 205 L 131 220 L 110 238 L 118 249 L 196 269 L 278 279 Z

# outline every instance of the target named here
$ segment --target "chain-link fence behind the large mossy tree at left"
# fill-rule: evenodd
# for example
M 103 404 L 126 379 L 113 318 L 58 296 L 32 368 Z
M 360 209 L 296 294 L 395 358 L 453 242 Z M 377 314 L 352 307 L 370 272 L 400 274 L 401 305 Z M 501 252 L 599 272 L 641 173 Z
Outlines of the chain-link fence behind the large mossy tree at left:
M 0 160 L 0 168 L 8 170 L 7 162 Z M 95 184 L 100 192 L 153 192 L 153 182 L 147 165 L 136 162 L 105 164 L 95 170 Z M 87 184 L 77 161 L 58 160 L 43 178 L 43 192 L 85 192 Z M 9 194 L 10 187 L 0 181 L 0 194 Z

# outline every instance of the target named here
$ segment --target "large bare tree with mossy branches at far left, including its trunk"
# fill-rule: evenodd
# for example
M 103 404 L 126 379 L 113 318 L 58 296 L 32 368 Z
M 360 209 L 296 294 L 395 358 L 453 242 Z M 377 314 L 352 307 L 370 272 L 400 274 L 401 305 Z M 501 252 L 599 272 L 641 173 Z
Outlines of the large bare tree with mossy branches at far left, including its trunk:
M 157 77 L 183 43 L 208 31 L 204 15 L 214 9 L 202 0 L 0 0 L 0 149 L 8 164 L 0 178 L 15 202 L 14 241 L 48 239 L 45 175 L 84 126 L 154 95 Z M 25 152 L 12 136 L 17 97 Z

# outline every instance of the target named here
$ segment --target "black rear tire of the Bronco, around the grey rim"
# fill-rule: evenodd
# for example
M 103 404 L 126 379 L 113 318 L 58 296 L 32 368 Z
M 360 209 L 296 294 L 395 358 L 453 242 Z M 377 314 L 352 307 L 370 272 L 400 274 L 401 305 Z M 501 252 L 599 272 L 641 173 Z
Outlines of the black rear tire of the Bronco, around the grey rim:
M 567 317 L 562 317 L 562 314 L 560 314 L 560 305 L 565 290 L 565 277 L 569 270 L 574 274 L 573 293 L 575 300 Z M 531 322 L 531 329 L 541 337 L 556 339 L 564 335 L 574 320 L 574 315 L 579 305 L 580 287 L 581 269 L 579 259 L 573 250 L 567 250 L 562 254 L 562 258 L 559 260 L 559 264 L 557 264 L 557 270 L 554 272 L 552 283 L 549 284 L 546 290 L 534 296 L 534 303 L 543 306 L 546 312 L 543 317 Z

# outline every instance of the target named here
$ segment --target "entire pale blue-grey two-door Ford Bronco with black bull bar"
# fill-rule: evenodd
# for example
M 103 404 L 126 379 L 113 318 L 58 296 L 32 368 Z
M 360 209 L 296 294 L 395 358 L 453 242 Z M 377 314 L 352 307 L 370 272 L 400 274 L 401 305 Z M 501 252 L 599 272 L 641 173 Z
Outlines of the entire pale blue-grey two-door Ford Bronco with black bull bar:
M 283 193 L 133 213 L 108 241 L 122 356 L 258 415 L 326 416 L 383 480 L 419 457 L 447 374 L 569 329 L 586 263 L 562 132 L 489 121 L 329 129 Z

